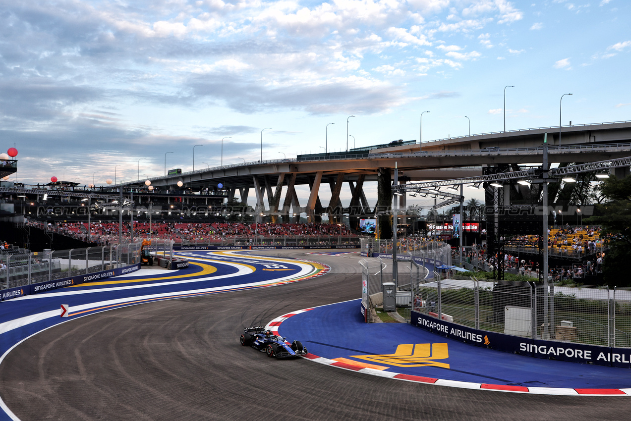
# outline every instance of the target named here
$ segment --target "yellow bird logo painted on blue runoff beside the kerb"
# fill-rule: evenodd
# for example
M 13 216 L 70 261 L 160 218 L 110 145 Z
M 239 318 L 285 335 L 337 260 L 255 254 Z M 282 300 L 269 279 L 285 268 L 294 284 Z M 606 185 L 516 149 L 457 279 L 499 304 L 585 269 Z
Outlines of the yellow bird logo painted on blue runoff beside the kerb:
M 350 355 L 350 357 L 379 362 L 397 367 L 443 367 L 449 364 L 435 360 L 449 358 L 447 343 L 405 343 L 396 347 L 394 354 Z

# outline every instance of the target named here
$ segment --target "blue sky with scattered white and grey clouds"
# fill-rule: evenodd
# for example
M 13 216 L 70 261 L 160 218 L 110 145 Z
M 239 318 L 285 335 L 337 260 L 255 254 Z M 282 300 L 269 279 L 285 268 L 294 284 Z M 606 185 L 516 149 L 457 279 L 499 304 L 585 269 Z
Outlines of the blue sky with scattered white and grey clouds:
M 0 3 L 19 182 L 493 132 L 506 85 L 507 130 L 631 120 L 627 0 Z

